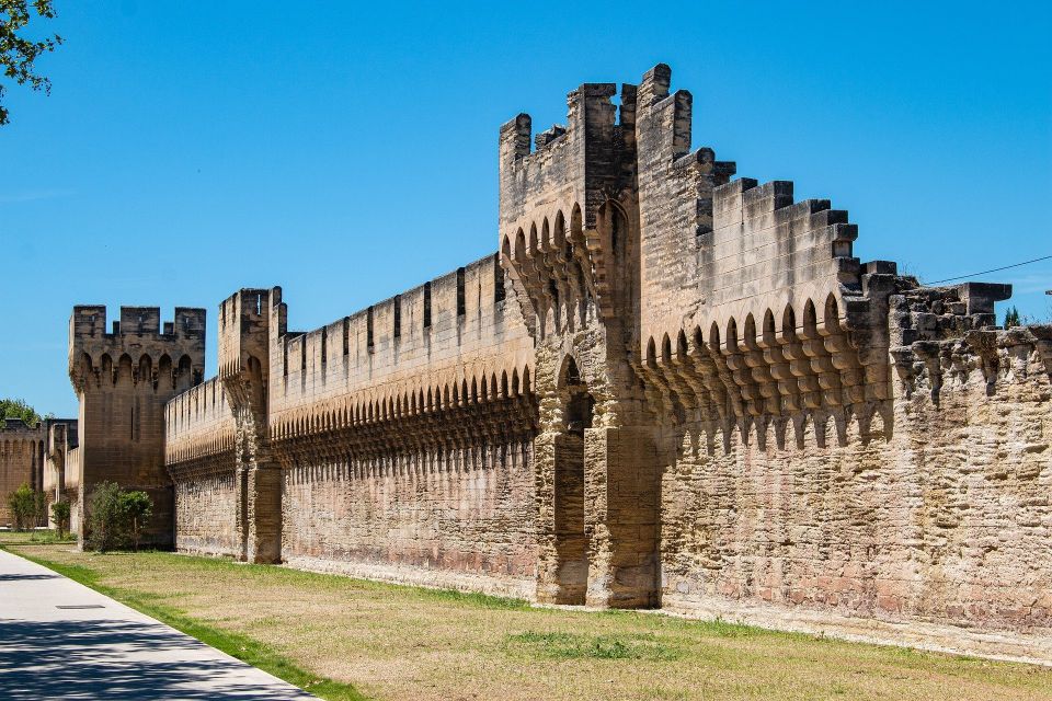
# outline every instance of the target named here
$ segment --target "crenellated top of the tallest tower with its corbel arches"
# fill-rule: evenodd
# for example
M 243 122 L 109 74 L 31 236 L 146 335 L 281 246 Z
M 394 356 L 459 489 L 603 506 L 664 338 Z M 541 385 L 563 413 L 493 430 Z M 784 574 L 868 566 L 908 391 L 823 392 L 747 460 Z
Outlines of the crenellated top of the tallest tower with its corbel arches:
M 616 227 L 634 206 L 636 87 L 620 106 L 613 83 L 585 83 L 567 97 L 567 126 L 537 135 L 521 114 L 501 127 L 500 251 L 530 331 L 572 327 L 594 303 L 616 313 L 619 272 Z M 624 228 L 624 226 L 622 226 Z M 576 322 L 578 325 L 583 321 Z

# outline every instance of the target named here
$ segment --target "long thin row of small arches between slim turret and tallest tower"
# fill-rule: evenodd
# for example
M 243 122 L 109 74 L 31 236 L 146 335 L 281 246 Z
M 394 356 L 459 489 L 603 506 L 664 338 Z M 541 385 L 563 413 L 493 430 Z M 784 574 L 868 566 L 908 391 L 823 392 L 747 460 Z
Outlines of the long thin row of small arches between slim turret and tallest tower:
M 441 384 L 370 390 L 285 412 L 272 423 L 271 437 L 277 440 L 309 436 L 327 430 L 375 425 L 424 414 L 484 406 L 502 400 L 531 399 L 533 372 L 528 364 L 498 374 L 481 372 Z

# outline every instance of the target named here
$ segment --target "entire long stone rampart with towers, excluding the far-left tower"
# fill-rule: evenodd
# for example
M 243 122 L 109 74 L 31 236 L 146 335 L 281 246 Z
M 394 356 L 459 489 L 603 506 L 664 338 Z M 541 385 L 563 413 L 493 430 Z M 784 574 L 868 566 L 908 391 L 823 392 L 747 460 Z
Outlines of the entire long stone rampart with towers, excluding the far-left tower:
M 500 129 L 496 255 L 309 332 L 225 300 L 175 545 L 1052 660 L 1052 327 L 855 257 L 691 111 L 581 85 Z

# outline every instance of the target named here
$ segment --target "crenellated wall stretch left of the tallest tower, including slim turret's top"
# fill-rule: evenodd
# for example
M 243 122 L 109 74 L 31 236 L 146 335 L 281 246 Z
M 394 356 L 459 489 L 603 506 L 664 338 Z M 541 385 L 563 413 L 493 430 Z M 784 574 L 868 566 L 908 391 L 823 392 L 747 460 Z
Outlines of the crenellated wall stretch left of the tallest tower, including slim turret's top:
M 249 547 L 224 388 L 250 377 L 282 468 L 282 560 L 409 582 L 448 570 L 450 585 L 526 594 L 533 342 L 505 296 L 488 256 L 306 333 L 287 331 L 279 288 L 225 300 L 218 377 L 165 410 L 178 547 Z

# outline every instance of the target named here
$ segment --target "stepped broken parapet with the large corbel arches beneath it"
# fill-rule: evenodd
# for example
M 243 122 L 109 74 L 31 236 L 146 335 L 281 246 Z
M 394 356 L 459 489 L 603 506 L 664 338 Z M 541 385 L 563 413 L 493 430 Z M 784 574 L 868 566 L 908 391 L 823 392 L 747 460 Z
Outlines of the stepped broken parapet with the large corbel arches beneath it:
M 793 203 L 792 183 L 741 179 L 712 203 L 691 285 L 671 300 L 644 285 L 659 309 L 642 320 L 638 371 L 656 405 L 736 421 L 890 399 L 894 264 L 861 266 L 847 212 Z

